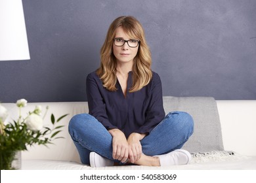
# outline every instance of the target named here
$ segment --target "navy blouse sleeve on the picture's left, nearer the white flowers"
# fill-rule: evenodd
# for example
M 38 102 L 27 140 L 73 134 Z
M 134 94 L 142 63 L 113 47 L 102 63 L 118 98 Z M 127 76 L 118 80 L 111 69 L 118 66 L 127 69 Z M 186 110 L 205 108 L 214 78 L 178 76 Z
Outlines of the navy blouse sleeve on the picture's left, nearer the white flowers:
M 103 93 L 100 92 L 100 88 L 103 90 L 102 82 L 100 79 L 94 76 L 93 73 L 89 74 L 86 80 L 89 114 L 94 116 L 98 122 L 106 127 L 106 129 L 117 128 L 108 120 L 108 115 L 106 114 L 106 105 L 102 97 Z

